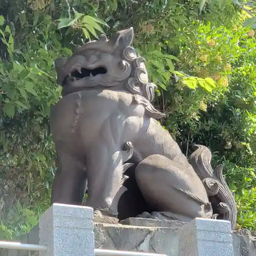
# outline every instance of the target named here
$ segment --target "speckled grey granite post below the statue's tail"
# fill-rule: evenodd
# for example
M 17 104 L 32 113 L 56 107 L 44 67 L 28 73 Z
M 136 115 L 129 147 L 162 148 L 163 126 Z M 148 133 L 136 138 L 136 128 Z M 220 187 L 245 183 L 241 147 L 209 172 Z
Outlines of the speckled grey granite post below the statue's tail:
M 179 230 L 179 256 L 233 256 L 229 221 L 197 218 Z

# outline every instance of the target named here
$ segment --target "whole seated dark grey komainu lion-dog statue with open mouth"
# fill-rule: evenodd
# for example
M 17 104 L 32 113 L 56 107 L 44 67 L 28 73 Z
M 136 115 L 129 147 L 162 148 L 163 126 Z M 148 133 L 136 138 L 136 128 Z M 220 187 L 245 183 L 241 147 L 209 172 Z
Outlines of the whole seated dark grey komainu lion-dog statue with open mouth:
M 229 220 L 237 209 L 212 169 L 207 147 L 187 159 L 156 119 L 156 86 L 145 59 L 131 46 L 133 28 L 101 35 L 55 62 L 62 98 L 53 106 L 51 131 L 58 169 L 52 203 L 86 205 L 103 217 L 196 217 Z

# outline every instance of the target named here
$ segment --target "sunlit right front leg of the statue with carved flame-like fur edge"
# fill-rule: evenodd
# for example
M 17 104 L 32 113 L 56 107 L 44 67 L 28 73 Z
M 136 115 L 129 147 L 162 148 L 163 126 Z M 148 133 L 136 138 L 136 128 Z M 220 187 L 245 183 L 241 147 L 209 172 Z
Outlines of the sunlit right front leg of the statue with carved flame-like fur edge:
M 104 216 L 117 217 L 118 201 L 126 190 L 122 186 L 123 162 L 127 159 L 127 151 L 121 145 L 95 142 L 90 150 L 87 162 L 88 198 L 87 206 L 99 210 Z

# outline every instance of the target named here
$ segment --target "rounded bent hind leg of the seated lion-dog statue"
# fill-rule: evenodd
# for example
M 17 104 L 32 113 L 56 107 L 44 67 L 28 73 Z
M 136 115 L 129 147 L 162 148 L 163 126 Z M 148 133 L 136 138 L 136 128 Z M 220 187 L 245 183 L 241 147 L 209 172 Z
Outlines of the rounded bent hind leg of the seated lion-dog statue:
M 138 164 L 135 174 L 143 197 L 154 211 L 184 222 L 211 218 L 206 190 L 193 168 L 184 169 L 174 160 L 152 155 Z

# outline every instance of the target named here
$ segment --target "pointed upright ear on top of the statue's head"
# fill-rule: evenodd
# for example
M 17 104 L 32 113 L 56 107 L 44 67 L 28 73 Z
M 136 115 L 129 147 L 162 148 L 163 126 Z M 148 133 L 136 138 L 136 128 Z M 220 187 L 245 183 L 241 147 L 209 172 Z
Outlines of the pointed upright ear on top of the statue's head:
M 125 47 L 130 46 L 133 41 L 133 27 L 118 31 L 110 39 L 109 43 L 113 47 L 113 51 L 123 50 Z

